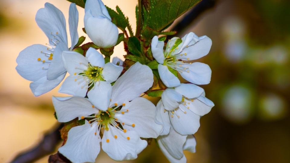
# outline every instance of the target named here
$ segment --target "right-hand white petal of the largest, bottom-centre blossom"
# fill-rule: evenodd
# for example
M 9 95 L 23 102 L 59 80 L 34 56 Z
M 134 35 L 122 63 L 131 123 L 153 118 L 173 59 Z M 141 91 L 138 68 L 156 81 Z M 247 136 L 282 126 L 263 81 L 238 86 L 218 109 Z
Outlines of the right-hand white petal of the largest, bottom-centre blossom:
M 142 138 L 157 138 L 160 135 L 163 126 L 155 122 L 156 107 L 152 102 L 146 98 L 137 97 L 131 102 L 125 101 L 124 104 L 121 111 L 125 113 L 115 114 L 118 120 L 125 123 L 124 129 L 136 131 Z M 132 124 L 135 126 L 132 127 Z

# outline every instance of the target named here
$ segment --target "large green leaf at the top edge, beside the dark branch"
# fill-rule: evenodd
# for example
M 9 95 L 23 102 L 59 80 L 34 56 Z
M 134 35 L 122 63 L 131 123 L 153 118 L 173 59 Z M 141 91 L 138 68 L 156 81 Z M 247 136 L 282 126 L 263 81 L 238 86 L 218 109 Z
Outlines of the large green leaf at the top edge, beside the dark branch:
M 148 27 L 162 30 L 201 0 L 150 0 Z

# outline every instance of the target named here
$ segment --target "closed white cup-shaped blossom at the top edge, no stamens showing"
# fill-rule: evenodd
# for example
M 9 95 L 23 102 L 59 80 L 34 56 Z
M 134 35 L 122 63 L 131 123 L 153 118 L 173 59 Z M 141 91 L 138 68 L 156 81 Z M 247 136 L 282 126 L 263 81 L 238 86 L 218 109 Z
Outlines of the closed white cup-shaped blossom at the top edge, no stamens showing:
M 118 28 L 111 22 L 106 6 L 101 0 L 85 2 L 85 31 L 92 42 L 101 48 L 115 46 L 118 40 Z

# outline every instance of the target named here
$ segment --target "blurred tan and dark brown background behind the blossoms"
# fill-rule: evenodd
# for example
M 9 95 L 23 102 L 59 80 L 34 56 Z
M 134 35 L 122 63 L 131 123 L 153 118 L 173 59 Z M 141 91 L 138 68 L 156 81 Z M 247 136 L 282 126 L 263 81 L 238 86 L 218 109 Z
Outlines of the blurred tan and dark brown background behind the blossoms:
M 185 152 L 188 163 L 289 163 L 290 1 L 203 1 L 210 4 L 208 9 L 196 13 L 197 6 L 170 27 L 178 30 L 178 37 L 192 31 L 207 35 L 213 42 L 210 53 L 196 61 L 212 69 L 211 83 L 201 87 L 215 106 L 200 120 L 201 127 L 195 133 L 197 152 Z M 57 93 L 57 87 L 34 97 L 30 81 L 15 70 L 21 50 L 48 42 L 34 20 L 45 2 L 59 8 L 68 24 L 70 3 L 65 0 L 0 0 L 1 163 L 30 149 L 56 126 L 51 96 L 66 96 Z M 136 29 L 137 0 L 103 2 L 110 8 L 118 5 Z M 78 11 L 79 36 L 87 37 L 82 32 L 84 10 L 78 7 Z M 123 45 L 119 44 L 113 56 L 123 55 Z M 101 151 L 96 162 L 115 161 Z M 153 141 L 136 160 L 124 162 L 168 161 Z

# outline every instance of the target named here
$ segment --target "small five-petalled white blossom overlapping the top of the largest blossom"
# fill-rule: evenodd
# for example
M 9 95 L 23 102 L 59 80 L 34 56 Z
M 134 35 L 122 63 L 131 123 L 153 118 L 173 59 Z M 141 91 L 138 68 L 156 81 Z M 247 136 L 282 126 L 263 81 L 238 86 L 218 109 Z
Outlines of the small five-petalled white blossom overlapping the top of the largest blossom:
M 60 87 L 60 93 L 85 97 L 100 110 L 107 110 L 110 103 L 112 85 L 121 74 L 123 67 L 106 63 L 101 53 L 89 48 L 86 56 L 77 53 L 63 52 L 64 66 L 69 72 Z

